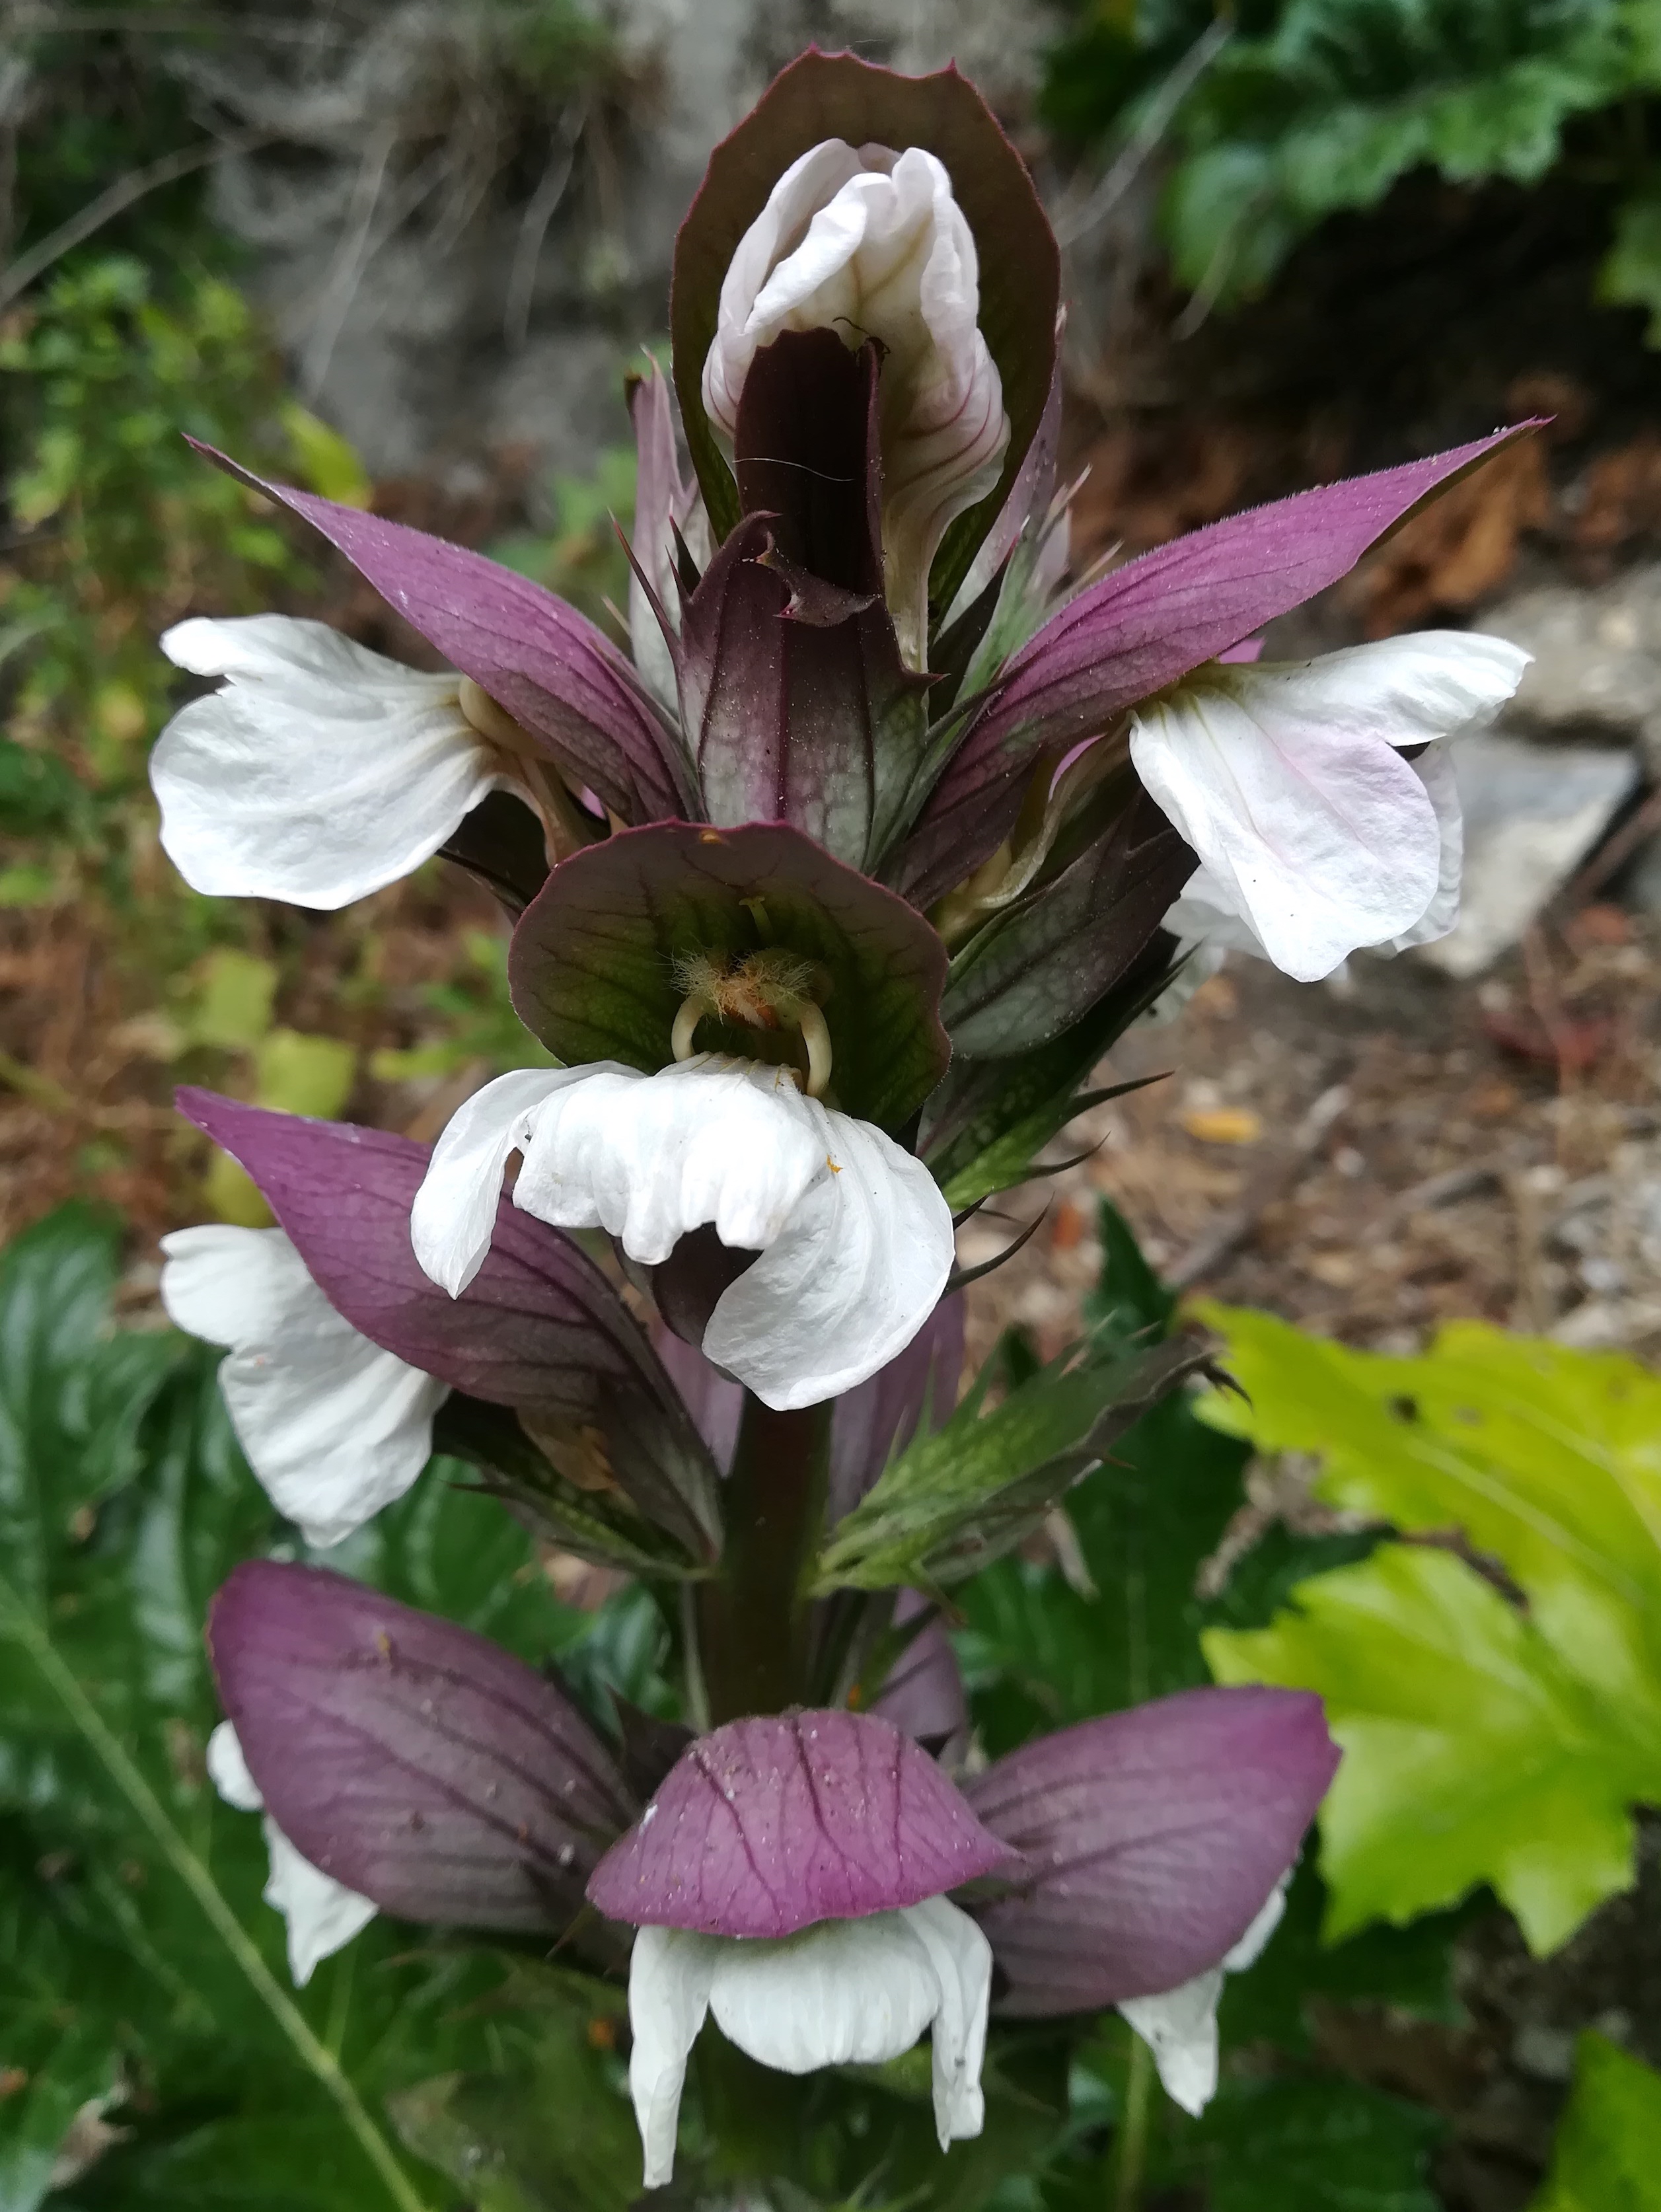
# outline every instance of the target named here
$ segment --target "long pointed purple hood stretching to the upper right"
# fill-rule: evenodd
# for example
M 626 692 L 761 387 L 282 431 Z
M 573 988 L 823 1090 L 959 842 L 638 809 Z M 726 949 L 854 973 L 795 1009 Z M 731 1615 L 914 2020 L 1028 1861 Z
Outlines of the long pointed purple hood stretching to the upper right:
M 1471 445 L 1298 491 L 1212 522 L 1101 577 L 1011 661 L 907 841 L 898 887 L 933 905 L 1015 827 L 1026 774 L 1347 575 L 1415 507 L 1446 491 L 1519 422 Z

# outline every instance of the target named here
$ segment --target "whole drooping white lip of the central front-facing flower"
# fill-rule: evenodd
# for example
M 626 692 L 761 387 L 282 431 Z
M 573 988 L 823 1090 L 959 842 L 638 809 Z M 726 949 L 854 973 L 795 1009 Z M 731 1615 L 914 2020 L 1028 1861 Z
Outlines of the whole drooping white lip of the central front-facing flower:
M 646 1267 L 712 1225 L 761 1256 L 710 1316 L 703 1352 L 779 1409 L 854 1389 L 918 1334 L 951 1274 L 951 1208 L 891 1137 L 803 1097 L 787 1071 L 701 1053 L 657 1075 L 520 1071 L 476 1093 L 433 1146 L 409 1219 L 416 1259 L 458 1294 L 513 1203 L 602 1228 Z

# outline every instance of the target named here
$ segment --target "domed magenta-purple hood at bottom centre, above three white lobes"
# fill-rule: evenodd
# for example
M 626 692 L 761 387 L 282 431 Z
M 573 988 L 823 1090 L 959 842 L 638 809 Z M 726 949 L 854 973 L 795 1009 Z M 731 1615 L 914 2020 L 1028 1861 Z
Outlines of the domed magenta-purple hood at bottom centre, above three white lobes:
M 608 1920 L 706 1936 L 794 1936 L 920 1905 L 1011 1851 L 889 1721 L 792 1712 L 728 1721 L 675 1763 L 602 1858 Z

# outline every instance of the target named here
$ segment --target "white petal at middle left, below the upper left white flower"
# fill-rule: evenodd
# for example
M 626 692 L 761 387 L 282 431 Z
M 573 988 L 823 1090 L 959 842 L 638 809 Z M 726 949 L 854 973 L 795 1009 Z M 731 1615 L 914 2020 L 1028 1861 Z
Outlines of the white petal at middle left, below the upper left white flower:
M 343 1321 L 281 1230 L 175 1230 L 161 1250 L 168 1318 L 228 1347 L 230 1425 L 305 1542 L 338 1544 L 403 1498 L 431 1458 L 447 1385 Z

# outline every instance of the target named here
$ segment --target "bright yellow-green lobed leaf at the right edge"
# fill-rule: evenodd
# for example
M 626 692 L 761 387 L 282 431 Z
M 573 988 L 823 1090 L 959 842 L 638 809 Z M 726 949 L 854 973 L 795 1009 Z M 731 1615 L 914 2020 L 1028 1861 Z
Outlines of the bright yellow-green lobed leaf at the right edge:
M 1422 1358 L 1201 1307 L 1258 1451 L 1320 1455 L 1320 1498 L 1464 1557 L 1382 1544 L 1298 1582 L 1258 1632 L 1212 1630 L 1221 1681 L 1318 1690 L 1345 1747 L 1320 1812 L 1329 1933 L 1480 1882 L 1535 1951 L 1632 1880 L 1630 1805 L 1661 1792 L 1661 1383 L 1619 1356 L 1453 1323 Z

